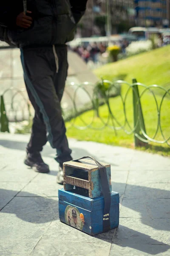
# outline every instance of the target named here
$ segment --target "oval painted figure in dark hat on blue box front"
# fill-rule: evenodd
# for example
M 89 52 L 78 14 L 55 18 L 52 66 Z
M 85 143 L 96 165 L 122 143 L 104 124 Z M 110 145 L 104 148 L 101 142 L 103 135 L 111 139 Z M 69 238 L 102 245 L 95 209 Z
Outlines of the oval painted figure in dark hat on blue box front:
M 79 230 L 83 228 L 83 222 L 80 218 L 80 212 L 76 207 L 68 205 L 65 208 L 65 221 L 71 227 L 75 227 Z

